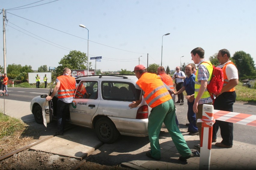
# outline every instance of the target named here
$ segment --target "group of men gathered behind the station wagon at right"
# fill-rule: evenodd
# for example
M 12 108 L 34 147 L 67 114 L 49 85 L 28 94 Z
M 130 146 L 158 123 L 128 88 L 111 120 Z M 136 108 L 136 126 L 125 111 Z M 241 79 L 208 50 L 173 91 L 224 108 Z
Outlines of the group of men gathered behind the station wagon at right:
M 159 76 L 148 73 L 143 65 L 137 65 L 134 68 L 133 72 L 139 80 L 136 82 L 136 101 L 129 104 L 129 107 L 137 107 L 141 103 L 143 95 L 148 106 L 152 108 L 148 117 L 148 136 L 151 151 L 146 153 L 150 158 L 159 160 L 161 157 L 159 134 L 163 123 L 170 133 L 179 154 L 181 154 L 179 160 L 186 161 L 190 157 L 200 156 L 200 145 L 195 145 L 194 148 L 197 150 L 191 151 L 177 126 L 175 103 L 184 104 L 182 92 L 185 90 L 187 92 L 186 99 L 188 100 L 188 132 L 190 132 L 190 135 L 199 135 L 201 141 L 202 123 L 197 123 L 197 119 L 202 119 L 203 104 L 212 105 L 213 103 L 213 99 L 207 90 L 207 84 L 212 78 L 213 66 L 210 61 L 204 59 L 203 48 L 197 47 L 190 54 L 194 63 L 185 67 L 187 77 L 178 66 L 172 78 L 165 74 L 162 66 L 157 70 Z M 221 49 L 218 52 L 217 59 L 220 63 L 218 67 L 222 68 L 224 73 L 224 85 L 221 93 L 216 96 L 214 109 L 232 112 L 233 103 L 236 100 L 234 87 L 238 84 L 238 71 L 230 60 L 230 52 L 227 49 Z M 197 70 L 195 64 L 197 64 Z M 172 83 L 174 79 L 176 92 L 174 92 Z M 178 101 L 174 102 L 170 94 L 178 95 Z M 233 123 L 217 120 L 213 126 L 212 142 L 216 142 L 218 128 L 221 130 L 222 141 L 215 143 L 215 146 L 231 148 L 233 145 Z

